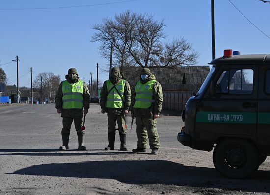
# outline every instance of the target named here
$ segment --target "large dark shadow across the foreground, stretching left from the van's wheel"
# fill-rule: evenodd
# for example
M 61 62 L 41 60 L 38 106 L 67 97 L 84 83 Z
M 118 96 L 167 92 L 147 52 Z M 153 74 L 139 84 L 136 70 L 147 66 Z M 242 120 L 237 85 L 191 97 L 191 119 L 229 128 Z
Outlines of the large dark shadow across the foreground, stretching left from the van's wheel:
M 270 192 L 270 171 L 256 171 L 249 179 L 227 179 L 214 168 L 185 166 L 166 160 L 89 161 L 34 165 L 15 171 L 20 175 L 44 175 L 115 179 L 127 184 L 164 184 L 249 192 Z

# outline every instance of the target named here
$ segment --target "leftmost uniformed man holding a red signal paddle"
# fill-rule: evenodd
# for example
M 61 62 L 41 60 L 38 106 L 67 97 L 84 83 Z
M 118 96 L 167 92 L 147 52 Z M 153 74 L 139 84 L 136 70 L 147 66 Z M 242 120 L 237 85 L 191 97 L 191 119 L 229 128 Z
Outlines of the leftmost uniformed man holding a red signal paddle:
M 88 113 L 90 105 L 90 93 L 87 85 L 79 79 L 75 68 L 68 70 L 66 80 L 60 83 L 55 96 L 55 108 L 57 113 L 61 113 L 63 118 L 63 128 L 61 131 L 63 145 L 60 150 L 69 149 L 69 134 L 72 121 L 77 131 L 78 149 L 86 150 L 84 146 L 84 131 L 81 130 L 83 114 Z

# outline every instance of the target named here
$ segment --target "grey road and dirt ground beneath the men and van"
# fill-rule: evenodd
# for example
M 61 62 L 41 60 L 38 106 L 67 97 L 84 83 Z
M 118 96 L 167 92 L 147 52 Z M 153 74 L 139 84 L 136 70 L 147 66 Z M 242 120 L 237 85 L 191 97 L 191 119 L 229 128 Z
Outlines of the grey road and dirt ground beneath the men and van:
M 270 158 L 249 178 L 228 179 L 213 166 L 212 152 L 177 142 L 179 116 L 161 116 L 158 155 L 104 151 L 107 116 L 91 105 L 86 151 L 77 151 L 74 128 L 70 148 L 59 151 L 61 121 L 54 105 L 0 106 L 0 195 L 263 195 L 270 194 Z M 128 121 L 130 128 L 130 119 Z

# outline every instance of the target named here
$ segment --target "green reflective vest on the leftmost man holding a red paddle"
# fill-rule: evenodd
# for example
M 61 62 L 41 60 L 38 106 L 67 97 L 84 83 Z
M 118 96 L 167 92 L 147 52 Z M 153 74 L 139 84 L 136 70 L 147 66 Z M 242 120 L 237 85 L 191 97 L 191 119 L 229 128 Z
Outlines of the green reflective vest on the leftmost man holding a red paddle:
M 63 109 L 83 108 L 83 81 L 77 83 L 69 83 L 63 81 Z

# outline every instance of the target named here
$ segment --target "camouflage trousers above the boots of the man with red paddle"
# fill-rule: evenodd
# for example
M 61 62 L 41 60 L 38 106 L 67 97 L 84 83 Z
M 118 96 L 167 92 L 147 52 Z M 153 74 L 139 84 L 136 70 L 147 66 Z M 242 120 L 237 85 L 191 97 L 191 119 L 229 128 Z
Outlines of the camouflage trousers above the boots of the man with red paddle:
M 74 121 L 75 130 L 77 131 L 77 134 L 83 134 L 84 131 L 81 130 L 82 126 L 82 118 L 73 118 L 73 117 L 63 117 L 63 128 L 62 128 L 62 135 L 63 134 L 69 134 L 71 124 Z

